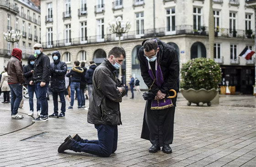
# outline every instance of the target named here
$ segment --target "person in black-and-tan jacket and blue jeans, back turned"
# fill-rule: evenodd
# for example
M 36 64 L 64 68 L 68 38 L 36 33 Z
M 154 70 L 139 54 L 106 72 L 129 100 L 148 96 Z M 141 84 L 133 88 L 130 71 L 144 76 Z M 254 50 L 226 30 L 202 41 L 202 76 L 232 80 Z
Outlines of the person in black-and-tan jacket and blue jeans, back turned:
M 81 108 L 80 81 L 81 81 L 84 69 L 80 68 L 79 64 L 80 62 L 76 60 L 74 62 L 74 67 L 70 70 L 69 73 L 66 74 L 66 77 L 71 76 L 71 84 L 70 84 L 71 102 L 70 102 L 70 106 L 67 109 L 73 109 L 75 93 L 78 101 L 78 109 Z

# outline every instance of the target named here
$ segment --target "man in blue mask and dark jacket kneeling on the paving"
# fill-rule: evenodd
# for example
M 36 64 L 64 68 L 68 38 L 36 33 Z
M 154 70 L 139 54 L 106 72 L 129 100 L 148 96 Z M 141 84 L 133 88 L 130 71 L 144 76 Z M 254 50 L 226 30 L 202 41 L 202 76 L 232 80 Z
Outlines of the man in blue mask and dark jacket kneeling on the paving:
M 108 53 L 108 59 L 104 59 L 93 75 L 87 121 L 97 129 L 98 140 L 83 140 L 78 134 L 68 136 L 59 146 L 59 152 L 73 150 L 109 157 L 117 150 L 117 125 L 122 124 L 119 103 L 125 95 L 125 88 L 116 74 L 124 57 L 123 48 L 113 47 Z

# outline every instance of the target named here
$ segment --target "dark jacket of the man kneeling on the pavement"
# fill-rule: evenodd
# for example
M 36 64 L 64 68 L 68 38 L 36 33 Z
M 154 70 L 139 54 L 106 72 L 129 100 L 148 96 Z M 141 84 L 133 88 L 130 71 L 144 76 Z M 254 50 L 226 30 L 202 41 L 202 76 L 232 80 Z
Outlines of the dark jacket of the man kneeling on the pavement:
M 121 113 L 119 103 L 126 94 L 123 83 L 116 77 L 116 69 L 105 58 L 95 69 L 87 121 L 91 124 L 120 125 Z M 120 93 L 117 87 L 121 87 Z

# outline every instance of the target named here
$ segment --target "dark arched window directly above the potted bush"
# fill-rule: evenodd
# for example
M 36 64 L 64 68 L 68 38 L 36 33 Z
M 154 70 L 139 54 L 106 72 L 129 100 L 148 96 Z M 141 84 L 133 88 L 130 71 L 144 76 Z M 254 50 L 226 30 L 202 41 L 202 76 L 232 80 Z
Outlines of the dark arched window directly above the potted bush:
M 191 59 L 197 57 L 206 57 L 206 48 L 201 42 L 195 42 L 190 50 Z

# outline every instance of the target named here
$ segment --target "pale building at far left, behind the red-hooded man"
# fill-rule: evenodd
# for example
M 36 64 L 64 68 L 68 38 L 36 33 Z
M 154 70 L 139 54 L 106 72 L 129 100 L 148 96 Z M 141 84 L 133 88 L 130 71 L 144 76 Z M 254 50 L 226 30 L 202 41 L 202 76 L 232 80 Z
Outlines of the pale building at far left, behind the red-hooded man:
M 13 47 L 22 50 L 23 64 L 26 58 L 34 54 L 33 45 L 41 42 L 40 10 L 30 0 L 0 0 L 0 72 L 6 67 Z M 22 34 L 20 41 L 11 42 L 4 39 L 3 32 L 14 30 Z

